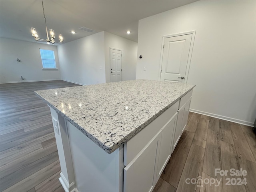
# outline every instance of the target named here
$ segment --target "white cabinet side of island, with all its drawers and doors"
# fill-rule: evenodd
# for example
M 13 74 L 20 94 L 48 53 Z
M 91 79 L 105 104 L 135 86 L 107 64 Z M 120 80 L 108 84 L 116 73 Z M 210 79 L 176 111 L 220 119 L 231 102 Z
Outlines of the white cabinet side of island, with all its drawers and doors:
M 124 192 L 152 192 L 188 120 L 192 90 L 124 144 Z

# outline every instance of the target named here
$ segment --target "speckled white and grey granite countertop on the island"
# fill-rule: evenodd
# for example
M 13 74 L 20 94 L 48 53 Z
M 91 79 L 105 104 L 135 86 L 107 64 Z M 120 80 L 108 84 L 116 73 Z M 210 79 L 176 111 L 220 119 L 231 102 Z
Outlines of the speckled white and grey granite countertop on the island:
M 195 85 L 131 80 L 35 91 L 107 153 L 112 153 Z

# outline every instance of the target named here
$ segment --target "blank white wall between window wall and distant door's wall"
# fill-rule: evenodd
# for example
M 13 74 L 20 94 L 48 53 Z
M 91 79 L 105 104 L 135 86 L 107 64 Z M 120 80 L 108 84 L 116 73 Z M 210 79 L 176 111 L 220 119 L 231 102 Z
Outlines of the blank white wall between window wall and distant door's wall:
M 59 45 L 58 55 L 62 80 L 86 85 L 106 82 L 104 32 Z

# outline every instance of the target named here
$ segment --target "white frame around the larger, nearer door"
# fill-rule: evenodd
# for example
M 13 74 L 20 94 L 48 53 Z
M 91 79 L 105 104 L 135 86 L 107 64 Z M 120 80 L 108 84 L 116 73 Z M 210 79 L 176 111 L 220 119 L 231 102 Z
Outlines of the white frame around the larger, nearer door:
M 162 47 L 161 47 L 160 65 L 159 65 L 159 73 L 158 73 L 158 80 L 159 81 L 161 79 L 162 61 L 163 61 L 163 56 L 164 56 L 164 39 L 169 38 L 169 37 L 188 35 L 188 34 L 192 34 L 191 44 L 190 44 L 190 49 L 192 49 L 192 50 L 191 51 L 189 50 L 189 54 L 188 54 L 188 64 L 187 64 L 187 67 L 186 67 L 184 83 L 188 82 L 188 72 L 189 72 L 189 68 L 190 68 L 190 62 L 191 62 L 191 57 L 192 57 L 192 52 L 193 52 L 193 47 L 194 47 L 194 40 L 195 40 L 196 30 L 188 31 L 188 32 L 182 32 L 182 33 L 176 33 L 176 34 L 171 34 L 171 35 L 165 35 L 165 36 L 162 37 Z

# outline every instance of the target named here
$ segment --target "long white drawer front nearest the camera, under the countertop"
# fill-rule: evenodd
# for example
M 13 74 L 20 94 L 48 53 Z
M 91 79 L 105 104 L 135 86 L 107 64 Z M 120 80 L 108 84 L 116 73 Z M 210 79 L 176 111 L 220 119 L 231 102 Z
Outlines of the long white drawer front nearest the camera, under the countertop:
M 148 144 L 148 142 L 165 126 L 178 110 L 179 102 L 173 104 L 133 138 L 124 144 L 124 165 L 127 166 L 133 158 Z

